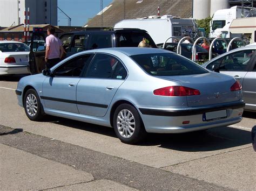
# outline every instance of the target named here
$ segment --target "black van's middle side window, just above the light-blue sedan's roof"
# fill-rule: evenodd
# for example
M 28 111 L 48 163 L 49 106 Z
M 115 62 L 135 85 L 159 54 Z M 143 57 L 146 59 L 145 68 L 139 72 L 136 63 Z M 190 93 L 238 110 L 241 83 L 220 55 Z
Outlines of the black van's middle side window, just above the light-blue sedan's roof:
M 112 34 L 92 34 L 89 49 L 110 48 L 112 46 Z

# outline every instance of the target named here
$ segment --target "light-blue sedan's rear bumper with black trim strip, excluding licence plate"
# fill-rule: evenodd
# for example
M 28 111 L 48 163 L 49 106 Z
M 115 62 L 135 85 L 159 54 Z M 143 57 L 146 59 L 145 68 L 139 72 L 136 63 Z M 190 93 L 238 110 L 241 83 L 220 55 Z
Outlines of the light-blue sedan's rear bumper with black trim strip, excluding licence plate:
M 244 105 L 245 103 L 240 101 L 222 105 L 218 104 L 214 107 L 197 107 L 176 110 L 139 107 L 139 112 L 147 132 L 184 133 L 238 123 L 242 120 L 241 114 L 244 111 Z M 227 116 L 225 118 L 216 118 L 211 121 L 205 121 L 203 119 L 206 112 L 220 110 L 226 110 Z

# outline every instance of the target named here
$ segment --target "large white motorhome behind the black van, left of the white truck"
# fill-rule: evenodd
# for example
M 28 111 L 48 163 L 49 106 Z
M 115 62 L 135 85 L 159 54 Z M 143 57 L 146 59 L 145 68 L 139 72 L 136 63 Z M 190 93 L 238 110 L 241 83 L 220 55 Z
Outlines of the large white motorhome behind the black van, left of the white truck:
M 171 15 L 122 20 L 114 25 L 114 29 L 120 28 L 136 28 L 146 30 L 156 44 L 164 43 L 167 38 L 172 36 L 179 39 L 185 35 L 193 36 L 195 31 L 197 31 L 197 25 L 194 19 L 182 19 L 180 17 L 173 17 Z

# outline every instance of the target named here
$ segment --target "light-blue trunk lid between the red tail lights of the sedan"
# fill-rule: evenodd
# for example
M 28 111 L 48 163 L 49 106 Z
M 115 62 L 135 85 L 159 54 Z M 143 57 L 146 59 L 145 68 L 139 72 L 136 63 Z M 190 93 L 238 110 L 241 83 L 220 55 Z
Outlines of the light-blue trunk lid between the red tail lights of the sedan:
M 187 96 L 188 107 L 233 102 L 241 99 L 241 91 L 231 91 L 231 86 L 235 80 L 219 73 L 161 76 L 161 78 L 176 81 L 181 86 L 200 91 L 200 95 Z

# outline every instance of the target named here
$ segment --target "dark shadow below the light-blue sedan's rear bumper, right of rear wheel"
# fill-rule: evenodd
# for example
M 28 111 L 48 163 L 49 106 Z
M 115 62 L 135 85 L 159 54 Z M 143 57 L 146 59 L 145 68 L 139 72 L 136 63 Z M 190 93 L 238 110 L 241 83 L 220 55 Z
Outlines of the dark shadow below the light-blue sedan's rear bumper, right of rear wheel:
M 206 131 L 180 134 L 152 134 L 144 146 L 159 145 L 162 148 L 185 152 L 217 151 L 251 144 L 251 132 L 227 126 Z

